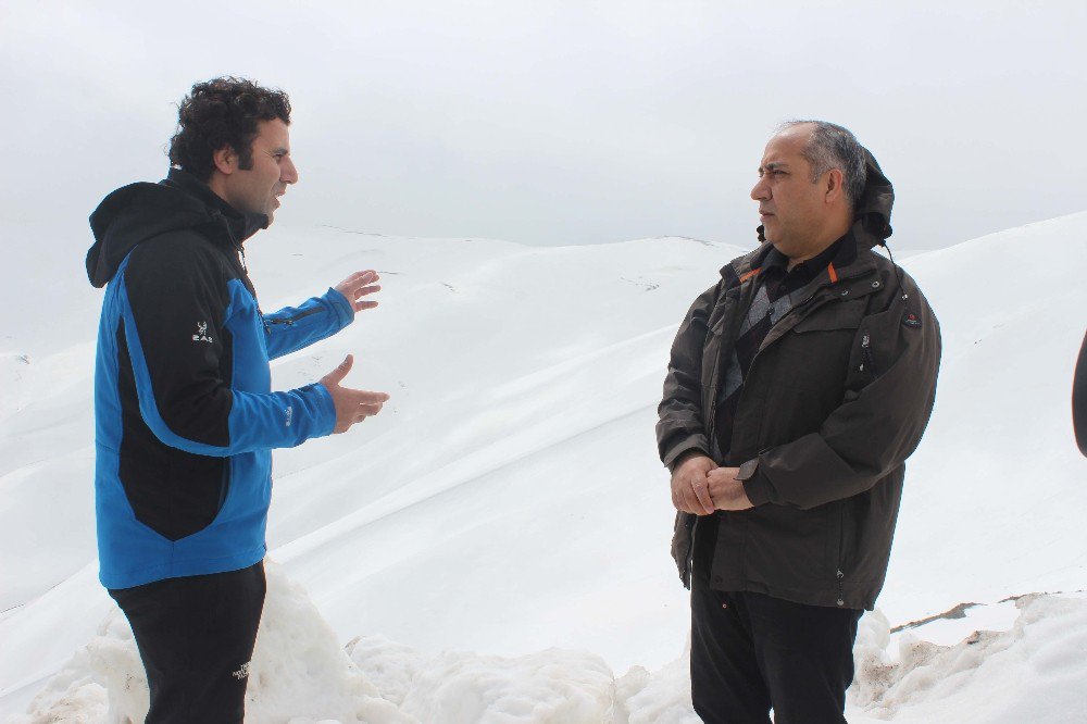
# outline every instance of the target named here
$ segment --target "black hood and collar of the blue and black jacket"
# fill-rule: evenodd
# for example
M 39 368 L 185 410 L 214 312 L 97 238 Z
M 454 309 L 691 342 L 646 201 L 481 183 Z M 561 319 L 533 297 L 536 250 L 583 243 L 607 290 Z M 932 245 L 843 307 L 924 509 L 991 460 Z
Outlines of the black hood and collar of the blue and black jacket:
M 267 225 L 264 214 L 237 211 L 196 176 L 171 168 L 158 184 L 123 186 L 98 204 L 90 215 L 87 277 L 105 286 L 137 245 L 167 232 L 193 229 L 229 249 Z

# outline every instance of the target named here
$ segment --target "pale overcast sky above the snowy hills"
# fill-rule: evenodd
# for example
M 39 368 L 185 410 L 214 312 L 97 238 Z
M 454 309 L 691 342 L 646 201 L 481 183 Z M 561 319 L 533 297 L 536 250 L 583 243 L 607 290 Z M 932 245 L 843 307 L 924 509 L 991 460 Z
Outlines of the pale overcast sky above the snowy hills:
M 823 117 L 895 183 L 892 242 L 935 248 L 1087 209 L 1085 9 L 4 0 L 0 221 L 85 229 L 234 74 L 290 93 L 290 228 L 749 244 L 766 138 Z

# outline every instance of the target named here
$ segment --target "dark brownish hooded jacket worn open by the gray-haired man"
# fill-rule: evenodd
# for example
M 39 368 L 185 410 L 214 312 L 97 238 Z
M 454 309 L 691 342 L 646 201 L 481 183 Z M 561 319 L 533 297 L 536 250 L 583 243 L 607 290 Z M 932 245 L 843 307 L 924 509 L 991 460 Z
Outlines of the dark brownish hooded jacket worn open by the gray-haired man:
M 871 250 L 890 234 L 894 194 L 874 160 L 869 174 L 852 229 L 857 260 L 833 275 L 823 270 L 766 335 L 727 457 L 713 428 L 723 364 L 767 245 L 722 270 L 673 344 L 657 425 L 661 460 L 671 469 L 698 450 L 721 465 L 757 465 L 745 483 L 754 508 L 717 513 L 714 588 L 871 609 L 883 587 L 904 461 L 933 409 L 940 333 L 914 280 Z M 677 515 L 672 552 L 685 585 L 697 529 L 695 515 Z

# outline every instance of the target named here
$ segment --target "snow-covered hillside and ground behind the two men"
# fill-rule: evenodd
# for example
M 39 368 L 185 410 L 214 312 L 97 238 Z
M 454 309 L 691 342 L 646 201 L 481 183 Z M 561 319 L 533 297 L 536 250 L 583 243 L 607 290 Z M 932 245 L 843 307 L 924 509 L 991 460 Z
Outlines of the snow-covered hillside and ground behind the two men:
M 305 677 L 280 675 L 265 691 L 297 696 L 257 721 L 689 720 L 686 595 L 667 554 L 653 423 L 679 320 L 744 249 L 680 238 L 535 248 L 327 227 L 266 236 L 249 249 L 265 309 L 355 269 L 377 269 L 384 286 L 378 309 L 277 363 L 275 385 L 311 382 L 352 352 L 348 384 L 392 399 L 348 435 L 276 454 L 270 545 L 282 594 L 270 590 L 262 640 L 276 635 L 276 606 L 299 607 L 279 634 L 293 626 L 314 642 L 287 658 L 310 656 L 324 673 L 297 691 L 284 682 Z M 1064 676 L 1079 692 L 1057 697 L 1046 721 L 1087 717 L 1087 601 L 998 603 L 1087 587 L 1087 462 L 1069 414 L 1087 324 L 1085 238 L 1082 213 L 903 262 L 941 321 L 945 357 L 908 469 L 885 617 L 866 616 L 858 642 L 870 665 L 851 721 L 934 711 L 1023 721 L 1002 712 L 1030 706 L 1010 686 L 1024 663 L 1041 665 L 1037 681 L 1054 690 Z M 46 344 L 51 329 L 40 327 L 9 335 L 0 351 L 0 713 L 25 710 L 63 669 L 39 710 L 59 712 L 77 684 L 70 711 L 96 721 L 100 684 L 132 665 L 93 562 L 95 316 L 91 305 L 72 310 L 89 322 L 67 345 Z M 890 635 L 960 602 L 989 606 Z M 963 644 L 966 653 L 911 638 L 958 644 L 978 622 L 1005 633 Z M 265 647 L 268 661 L 285 658 L 277 646 Z M 484 696 L 473 688 L 484 681 L 501 684 Z M 468 691 L 485 709 L 458 708 Z M 314 697 L 328 706 L 301 706 Z

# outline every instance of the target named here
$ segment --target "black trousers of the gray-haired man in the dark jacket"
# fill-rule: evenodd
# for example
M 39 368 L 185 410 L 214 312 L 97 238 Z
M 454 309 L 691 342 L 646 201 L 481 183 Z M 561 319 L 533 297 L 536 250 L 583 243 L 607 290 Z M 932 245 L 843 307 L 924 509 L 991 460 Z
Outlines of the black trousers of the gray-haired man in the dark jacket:
M 839 724 L 861 611 L 717 591 L 691 576 L 690 688 L 703 722 Z

